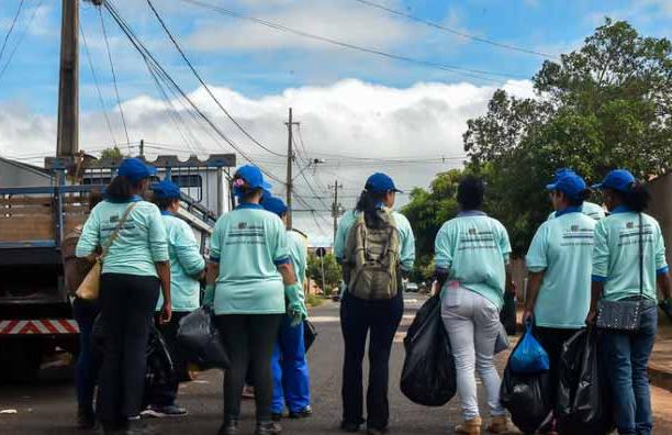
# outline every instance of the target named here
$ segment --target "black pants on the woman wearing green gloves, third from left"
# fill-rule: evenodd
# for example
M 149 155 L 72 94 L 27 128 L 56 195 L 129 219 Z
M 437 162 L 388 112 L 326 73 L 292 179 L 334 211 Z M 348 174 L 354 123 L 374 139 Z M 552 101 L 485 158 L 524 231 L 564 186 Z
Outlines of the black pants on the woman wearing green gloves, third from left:
M 257 421 L 271 420 L 273 378 L 271 357 L 284 314 L 225 314 L 215 321 L 231 359 L 224 373 L 224 421 L 240 415 L 240 398 L 245 375 L 251 365 Z

